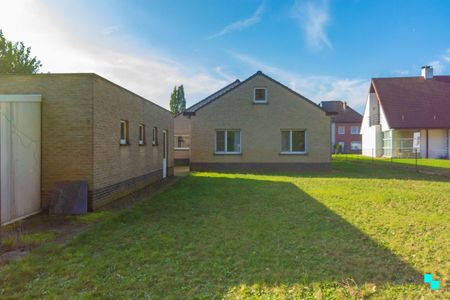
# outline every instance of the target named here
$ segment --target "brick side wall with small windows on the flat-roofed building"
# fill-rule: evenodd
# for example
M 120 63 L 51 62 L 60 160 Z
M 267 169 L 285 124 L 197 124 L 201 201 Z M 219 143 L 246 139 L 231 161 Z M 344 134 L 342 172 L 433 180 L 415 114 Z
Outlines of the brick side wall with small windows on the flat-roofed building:
M 129 143 L 119 144 L 120 120 L 128 120 Z M 139 124 L 146 144 L 139 145 Z M 158 127 L 157 146 L 152 128 Z M 168 131 L 169 166 L 173 166 L 173 117 L 167 110 L 101 78 L 94 78 L 94 189 L 162 170 L 162 131 Z

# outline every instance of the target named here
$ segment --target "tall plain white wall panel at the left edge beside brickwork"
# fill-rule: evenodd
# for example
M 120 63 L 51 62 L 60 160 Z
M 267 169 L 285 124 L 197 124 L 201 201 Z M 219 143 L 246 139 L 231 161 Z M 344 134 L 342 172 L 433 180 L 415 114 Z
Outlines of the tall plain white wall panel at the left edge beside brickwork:
M 0 95 L 1 223 L 41 207 L 41 96 Z

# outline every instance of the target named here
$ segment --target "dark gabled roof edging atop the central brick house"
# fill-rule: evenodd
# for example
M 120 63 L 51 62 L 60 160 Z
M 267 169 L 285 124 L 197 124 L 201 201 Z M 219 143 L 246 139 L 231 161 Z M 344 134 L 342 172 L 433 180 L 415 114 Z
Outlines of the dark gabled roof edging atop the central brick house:
M 282 84 L 281 82 L 273 79 L 270 76 L 267 76 L 266 74 L 264 74 L 261 71 L 257 71 L 255 74 L 253 74 L 252 76 L 250 76 L 249 78 L 245 79 L 244 81 L 239 81 L 239 79 L 236 79 L 234 82 L 230 83 L 229 85 L 227 85 L 226 87 L 218 90 L 217 92 L 215 92 L 214 94 L 209 95 L 208 97 L 206 97 L 205 99 L 197 102 L 196 104 L 192 105 L 191 107 L 187 108 L 183 114 L 185 115 L 195 115 L 195 112 L 199 109 L 201 109 L 202 107 L 204 107 L 205 105 L 208 105 L 209 103 L 219 99 L 220 97 L 222 97 L 223 95 L 231 92 L 232 90 L 234 90 L 235 88 L 241 86 L 242 84 L 246 83 L 247 81 L 253 79 L 254 77 L 261 75 L 264 76 L 265 78 L 275 82 L 276 84 L 280 85 L 281 87 L 287 89 L 289 92 L 293 93 L 296 96 L 299 96 L 301 98 L 303 98 L 305 101 L 309 102 L 310 104 L 314 105 L 315 107 L 317 107 L 318 109 L 322 110 L 325 112 L 325 110 L 323 110 L 319 105 L 317 105 L 316 103 L 314 103 L 313 101 L 309 100 L 308 98 L 306 98 L 305 96 L 297 93 L 296 91 L 290 89 L 289 87 L 285 86 L 284 84 Z

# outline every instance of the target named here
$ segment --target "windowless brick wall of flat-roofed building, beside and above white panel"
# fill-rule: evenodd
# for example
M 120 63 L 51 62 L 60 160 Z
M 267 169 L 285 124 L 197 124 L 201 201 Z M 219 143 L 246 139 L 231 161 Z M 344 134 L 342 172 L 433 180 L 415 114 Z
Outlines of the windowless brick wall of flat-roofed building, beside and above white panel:
M 56 181 L 92 176 L 92 75 L 0 75 L 0 94 L 42 95 L 43 207 Z

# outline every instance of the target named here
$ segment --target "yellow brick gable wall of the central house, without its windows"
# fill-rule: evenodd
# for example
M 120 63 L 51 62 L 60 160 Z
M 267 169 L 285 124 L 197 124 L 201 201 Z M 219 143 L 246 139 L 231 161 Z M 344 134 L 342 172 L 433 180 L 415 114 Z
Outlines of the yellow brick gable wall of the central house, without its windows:
M 266 87 L 267 104 L 253 103 Z M 257 75 L 191 117 L 192 163 L 329 163 L 330 118 L 320 108 Z M 215 155 L 215 129 L 241 130 L 241 155 Z M 306 129 L 307 154 L 282 155 L 281 129 Z

